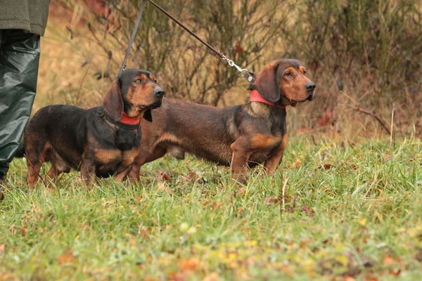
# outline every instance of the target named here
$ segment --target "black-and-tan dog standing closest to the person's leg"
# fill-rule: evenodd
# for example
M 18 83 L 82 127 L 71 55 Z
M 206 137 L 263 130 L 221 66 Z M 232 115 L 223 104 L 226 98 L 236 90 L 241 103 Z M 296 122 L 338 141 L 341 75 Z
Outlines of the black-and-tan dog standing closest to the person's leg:
M 27 157 L 27 184 L 32 187 L 43 162 L 49 177 L 80 169 L 90 186 L 94 176 L 122 181 L 132 168 L 141 143 L 140 120 L 149 122 L 164 91 L 145 70 L 125 70 L 103 100 L 102 107 L 84 110 L 71 105 L 41 108 L 25 127 L 15 157 Z

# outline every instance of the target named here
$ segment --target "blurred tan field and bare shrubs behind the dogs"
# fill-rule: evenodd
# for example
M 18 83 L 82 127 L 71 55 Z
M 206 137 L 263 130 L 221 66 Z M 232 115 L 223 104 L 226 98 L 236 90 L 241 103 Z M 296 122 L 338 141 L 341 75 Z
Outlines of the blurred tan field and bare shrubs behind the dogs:
M 250 71 L 279 58 L 301 60 L 316 83 L 316 99 L 288 108 L 290 129 L 297 134 L 388 136 L 385 127 L 400 135 L 422 133 L 420 1 L 155 2 Z M 50 103 L 101 104 L 140 4 L 52 1 L 33 113 Z M 148 1 L 128 67 L 155 73 L 167 97 L 216 106 L 249 97 L 248 82 L 237 70 Z

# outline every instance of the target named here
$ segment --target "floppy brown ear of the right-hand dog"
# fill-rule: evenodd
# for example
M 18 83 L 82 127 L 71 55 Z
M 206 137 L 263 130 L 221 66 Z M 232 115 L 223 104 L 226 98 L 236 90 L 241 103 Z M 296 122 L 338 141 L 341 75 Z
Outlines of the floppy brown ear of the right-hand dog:
M 279 65 L 266 65 L 258 74 L 255 80 L 257 90 L 266 100 L 276 103 L 280 99 L 279 83 L 276 79 L 276 70 Z

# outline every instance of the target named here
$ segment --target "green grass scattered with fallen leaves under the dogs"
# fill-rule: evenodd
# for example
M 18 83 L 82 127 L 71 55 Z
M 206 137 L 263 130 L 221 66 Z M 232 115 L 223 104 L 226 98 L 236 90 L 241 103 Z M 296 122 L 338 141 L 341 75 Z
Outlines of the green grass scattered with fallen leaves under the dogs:
M 79 173 L 28 190 L 15 160 L 0 280 L 421 280 L 421 159 L 414 138 L 303 138 L 275 176 L 258 168 L 242 187 L 222 166 L 169 157 L 139 185 L 102 179 L 91 192 Z

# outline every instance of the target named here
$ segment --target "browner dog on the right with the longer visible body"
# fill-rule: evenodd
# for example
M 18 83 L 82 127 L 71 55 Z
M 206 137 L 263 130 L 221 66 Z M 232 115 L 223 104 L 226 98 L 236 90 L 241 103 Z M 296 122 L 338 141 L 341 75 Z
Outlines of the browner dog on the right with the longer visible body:
M 217 108 L 165 99 L 153 112 L 153 123 L 142 122 L 141 152 L 129 172 L 139 179 L 140 167 L 172 152 L 184 152 L 230 165 L 234 179 L 245 181 L 247 166 L 264 163 L 273 174 L 286 148 L 286 109 L 314 98 L 315 84 L 298 60 L 275 60 L 255 75 L 255 98 L 244 105 Z M 256 96 L 258 98 L 256 98 Z M 252 95 L 251 95 L 252 97 Z

